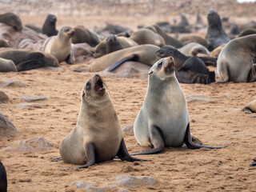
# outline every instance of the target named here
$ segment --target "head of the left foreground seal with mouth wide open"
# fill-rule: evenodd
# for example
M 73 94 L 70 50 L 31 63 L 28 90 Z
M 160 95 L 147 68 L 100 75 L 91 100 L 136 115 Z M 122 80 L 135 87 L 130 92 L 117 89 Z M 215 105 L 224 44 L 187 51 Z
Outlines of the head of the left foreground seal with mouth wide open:
M 106 85 L 101 76 L 95 74 L 86 82 L 86 86 L 82 89 L 82 99 L 86 101 L 100 99 L 106 96 Z

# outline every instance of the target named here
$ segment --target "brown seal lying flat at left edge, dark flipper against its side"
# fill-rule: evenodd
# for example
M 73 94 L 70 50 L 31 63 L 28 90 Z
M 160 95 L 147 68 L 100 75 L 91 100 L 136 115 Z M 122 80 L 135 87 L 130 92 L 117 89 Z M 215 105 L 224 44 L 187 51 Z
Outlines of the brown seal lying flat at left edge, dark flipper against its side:
M 18 71 L 32 70 L 43 66 L 59 66 L 57 58 L 40 51 L 3 50 L 0 51 L 0 58 L 13 61 Z

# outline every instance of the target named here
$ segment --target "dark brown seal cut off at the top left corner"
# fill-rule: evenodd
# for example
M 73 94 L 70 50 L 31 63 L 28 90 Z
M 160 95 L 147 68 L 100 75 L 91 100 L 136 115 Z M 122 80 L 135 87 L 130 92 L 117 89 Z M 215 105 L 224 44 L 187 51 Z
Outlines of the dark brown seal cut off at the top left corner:
M 0 14 L 0 22 L 5 23 L 7 26 L 12 26 L 14 30 L 22 30 L 22 21 L 16 14 Z

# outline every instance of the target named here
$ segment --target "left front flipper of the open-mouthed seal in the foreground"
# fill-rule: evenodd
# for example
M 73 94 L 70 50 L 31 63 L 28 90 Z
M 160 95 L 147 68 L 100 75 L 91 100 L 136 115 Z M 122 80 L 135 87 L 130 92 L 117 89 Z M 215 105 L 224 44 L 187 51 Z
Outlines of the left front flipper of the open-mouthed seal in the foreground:
M 90 142 L 86 144 L 86 165 L 83 166 L 76 166 L 74 168 L 67 168 L 62 170 L 74 170 L 74 169 L 82 169 L 88 168 L 89 166 L 93 166 L 95 164 L 95 145 L 94 143 Z

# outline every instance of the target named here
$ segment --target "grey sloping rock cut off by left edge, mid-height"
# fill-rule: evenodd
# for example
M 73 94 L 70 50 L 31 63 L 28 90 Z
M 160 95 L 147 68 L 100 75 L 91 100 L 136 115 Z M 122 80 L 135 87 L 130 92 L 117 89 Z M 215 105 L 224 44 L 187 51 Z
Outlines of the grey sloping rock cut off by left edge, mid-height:
M 18 133 L 14 124 L 0 112 L 0 137 L 10 137 Z

